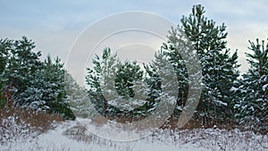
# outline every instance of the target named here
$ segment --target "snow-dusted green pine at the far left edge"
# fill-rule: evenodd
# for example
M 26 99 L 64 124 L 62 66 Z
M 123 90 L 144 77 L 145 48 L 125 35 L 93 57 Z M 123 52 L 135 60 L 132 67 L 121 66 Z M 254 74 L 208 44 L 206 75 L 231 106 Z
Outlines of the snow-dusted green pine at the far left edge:
M 20 101 L 18 94 L 30 85 L 29 79 L 41 65 L 39 61 L 41 53 L 32 51 L 35 45 L 26 37 L 22 37 L 21 40 L 6 39 L 2 41 L 2 46 L 7 55 L 5 69 L 1 75 L 1 79 L 4 80 L 2 90 L 4 94 L 9 94 L 8 97 L 12 97 L 6 98 L 9 101 L 8 105 L 18 105 Z

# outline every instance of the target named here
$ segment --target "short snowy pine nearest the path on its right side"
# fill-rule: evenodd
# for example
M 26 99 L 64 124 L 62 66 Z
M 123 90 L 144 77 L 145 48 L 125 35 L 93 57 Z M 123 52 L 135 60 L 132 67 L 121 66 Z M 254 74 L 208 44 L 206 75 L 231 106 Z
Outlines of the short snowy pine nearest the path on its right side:
M 86 81 L 88 83 L 88 98 L 95 105 L 96 111 L 102 115 L 108 115 L 110 113 L 117 113 L 118 110 L 107 104 L 109 99 L 116 100 L 114 97 L 114 77 L 116 65 L 118 64 L 118 58 L 116 55 L 111 55 L 111 49 L 105 48 L 102 58 L 98 55 L 93 59 L 94 67 L 88 68 L 88 75 Z

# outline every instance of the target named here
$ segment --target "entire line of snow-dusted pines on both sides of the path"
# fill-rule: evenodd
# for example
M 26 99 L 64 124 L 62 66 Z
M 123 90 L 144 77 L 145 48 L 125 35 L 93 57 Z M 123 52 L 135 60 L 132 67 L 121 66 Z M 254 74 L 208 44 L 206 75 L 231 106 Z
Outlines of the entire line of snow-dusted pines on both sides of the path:
M 238 53 L 230 53 L 226 38 L 226 26 L 207 19 L 204 7 L 195 5 L 192 13 L 183 16 L 180 24 L 171 29 L 168 42 L 155 54 L 152 63 L 143 67 L 136 62 L 121 63 L 109 48 L 105 48 L 102 56 L 96 55 L 94 67 L 88 68 L 86 77 L 88 98 L 84 97 L 83 88 L 79 90 L 81 97 L 66 95 L 66 91 L 76 90 L 64 86 L 65 71 L 59 58 L 53 61 L 47 56 L 45 61 L 40 61 L 41 53 L 33 52 L 34 43 L 27 38 L 2 39 L 0 103 L 2 106 L 7 103 L 7 106 L 60 113 L 65 118 L 74 119 L 68 99 L 80 98 L 90 100 L 98 113 L 107 118 L 139 120 L 154 113 L 163 99 L 163 88 L 173 86 L 169 81 L 163 86 L 160 75 L 162 72 L 170 76 L 172 71 L 163 68 L 159 72 L 159 66 L 168 62 L 172 64 L 177 81 L 177 87 L 172 88 L 177 96 L 171 99 L 176 104 L 172 113 L 172 118 L 176 119 L 185 109 L 188 97 L 189 69 L 181 56 L 181 51 L 185 51 L 181 46 L 187 44 L 193 46 L 202 71 L 202 93 L 193 119 L 200 120 L 203 125 L 213 121 L 237 122 L 267 130 L 268 45 L 259 40 L 249 42 L 247 61 L 250 67 L 240 75 Z M 79 88 L 73 81 L 72 85 Z M 81 111 L 87 106 L 84 102 L 74 104 L 80 105 L 76 109 Z M 80 114 L 87 116 L 87 113 Z

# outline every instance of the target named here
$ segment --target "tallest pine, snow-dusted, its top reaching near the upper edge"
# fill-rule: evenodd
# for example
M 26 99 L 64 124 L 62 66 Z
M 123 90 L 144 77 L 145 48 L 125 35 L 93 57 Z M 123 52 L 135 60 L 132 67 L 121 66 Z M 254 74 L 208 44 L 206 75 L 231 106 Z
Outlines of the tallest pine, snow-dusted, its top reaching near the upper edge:
M 226 48 L 226 26 L 216 26 L 213 20 L 205 18 L 205 10 L 201 5 L 195 5 L 188 17 L 182 17 L 181 23 L 182 26 L 172 29 L 168 46 L 165 46 L 178 71 L 180 102 L 185 102 L 188 90 L 180 47 L 176 47 L 180 33 L 184 33 L 194 46 L 202 67 L 203 88 L 198 113 L 203 117 L 230 117 L 234 105 L 231 88 L 239 76 L 239 64 L 237 52 L 230 55 L 230 49 Z

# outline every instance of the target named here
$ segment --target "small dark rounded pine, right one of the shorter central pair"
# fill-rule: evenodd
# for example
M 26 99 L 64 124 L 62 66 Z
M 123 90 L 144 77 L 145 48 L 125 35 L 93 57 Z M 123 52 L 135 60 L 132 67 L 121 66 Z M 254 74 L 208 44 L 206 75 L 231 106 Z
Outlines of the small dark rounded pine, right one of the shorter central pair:
M 137 62 L 125 61 L 119 63 L 115 77 L 115 88 L 120 101 L 121 110 L 131 111 L 140 105 L 145 104 L 147 95 L 143 86 L 144 72 Z

